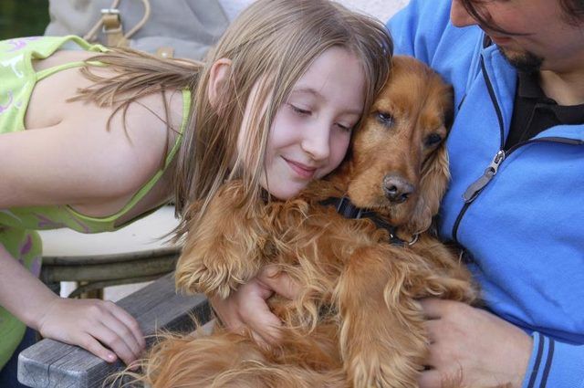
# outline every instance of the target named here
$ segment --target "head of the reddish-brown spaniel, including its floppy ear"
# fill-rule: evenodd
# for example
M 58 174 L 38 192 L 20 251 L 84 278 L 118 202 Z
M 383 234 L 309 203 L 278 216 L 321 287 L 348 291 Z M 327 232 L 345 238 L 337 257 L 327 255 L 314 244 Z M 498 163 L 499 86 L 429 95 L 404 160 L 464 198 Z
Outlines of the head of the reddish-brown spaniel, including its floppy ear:
M 452 116 L 452 88 L 422 62 L 394 57 L 390 77 L 353 140 L 353 204 L 412 233 L 426 230 L 449 180 L 443 143 Z

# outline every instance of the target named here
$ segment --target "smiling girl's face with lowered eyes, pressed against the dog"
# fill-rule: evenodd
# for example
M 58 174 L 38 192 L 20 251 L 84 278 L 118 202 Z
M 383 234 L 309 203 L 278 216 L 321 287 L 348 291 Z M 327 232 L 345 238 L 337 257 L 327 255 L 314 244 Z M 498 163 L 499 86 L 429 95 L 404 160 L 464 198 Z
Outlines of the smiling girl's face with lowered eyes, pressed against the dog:
M 358 58 L 348 50 L 331 47 L 316 58 L 276 112 L 262 187 L 276 198 L 287 199 L 337 168 L 362 114 L 364 95 L 365 75 Z M 239 133 L 238 147 L 245 131 L 244 127 Z

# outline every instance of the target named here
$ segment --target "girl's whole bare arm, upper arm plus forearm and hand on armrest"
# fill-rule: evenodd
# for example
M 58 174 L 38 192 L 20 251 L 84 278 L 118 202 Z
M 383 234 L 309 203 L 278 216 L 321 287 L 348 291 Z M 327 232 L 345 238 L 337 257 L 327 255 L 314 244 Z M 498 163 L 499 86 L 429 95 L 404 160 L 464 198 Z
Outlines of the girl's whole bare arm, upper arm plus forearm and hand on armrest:
M 162 165 L 168 131 L 155 117 L 164 117 L 162 105 L 160 96 L 134 103 L 126 130 L 119 113 L 106 131 L 110 109 L 71 103 L 69 114 L 52 126 L 0 135 L 0 209 L 70 204 L 90 215 L 115 213 Z M 136 320 L 125 311 L 101 300 L 58 298 L 4 246 L 0 305 L 43 336 L 108 362 L 114 353 L 132 362 L 144 347 Z

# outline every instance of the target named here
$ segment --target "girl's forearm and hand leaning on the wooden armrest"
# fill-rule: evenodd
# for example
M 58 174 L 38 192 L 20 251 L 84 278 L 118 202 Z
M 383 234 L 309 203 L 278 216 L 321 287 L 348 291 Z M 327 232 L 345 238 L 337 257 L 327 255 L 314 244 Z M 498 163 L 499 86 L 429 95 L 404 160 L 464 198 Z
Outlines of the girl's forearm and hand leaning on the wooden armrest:
M 43 337 L 78 345 L 107 362 L 117 354 L 130 364 L 145 346 L 138 322 L 123 309 L 109 301 L 57 297 L 2 245 L 0 305 Z

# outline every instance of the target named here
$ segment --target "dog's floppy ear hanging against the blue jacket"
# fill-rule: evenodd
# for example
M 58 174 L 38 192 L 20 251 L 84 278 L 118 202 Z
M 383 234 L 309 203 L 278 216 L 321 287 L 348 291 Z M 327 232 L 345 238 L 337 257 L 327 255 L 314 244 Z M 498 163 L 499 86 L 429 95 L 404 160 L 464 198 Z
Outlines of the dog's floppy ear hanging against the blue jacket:
M 421 233 L 430 227 L 433 216 L 438 213 L 449 180 L 448 152 L 442 143 L 422 166 L 420 196 L 408 224 L 408 230 L 412 234 Z

